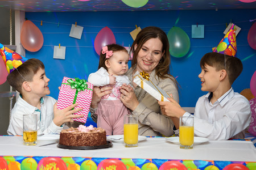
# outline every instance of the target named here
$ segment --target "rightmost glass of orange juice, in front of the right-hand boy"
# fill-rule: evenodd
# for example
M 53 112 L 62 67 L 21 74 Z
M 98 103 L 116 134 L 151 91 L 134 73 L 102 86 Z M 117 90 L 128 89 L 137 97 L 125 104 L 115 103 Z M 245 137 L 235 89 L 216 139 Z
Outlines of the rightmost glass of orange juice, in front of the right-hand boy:
M 180 148 L 193 148 L 194 143 L 194 117 L 180 117 Z

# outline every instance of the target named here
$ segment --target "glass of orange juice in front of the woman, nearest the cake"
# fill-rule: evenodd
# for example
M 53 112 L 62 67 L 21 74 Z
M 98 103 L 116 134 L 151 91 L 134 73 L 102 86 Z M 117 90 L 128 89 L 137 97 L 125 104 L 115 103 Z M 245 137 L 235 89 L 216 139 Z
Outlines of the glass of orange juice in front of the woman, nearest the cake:
M 125 147 L 137 147 L 138 116 L 126 114 L 123 123 L 123 141 L 125 141 Z

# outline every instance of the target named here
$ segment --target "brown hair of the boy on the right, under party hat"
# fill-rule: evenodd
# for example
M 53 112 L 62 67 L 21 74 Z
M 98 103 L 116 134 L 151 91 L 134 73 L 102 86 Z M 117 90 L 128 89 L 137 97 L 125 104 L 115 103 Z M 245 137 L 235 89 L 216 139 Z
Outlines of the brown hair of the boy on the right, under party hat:
M 226 70 L 230 84 L 233 84 L 243 70 L 243 65 L 239 58 L 215 52 L 207 53 L 201 58 L 201 68 L 205 68 L 205 65 L 214 67 L 216 71 Z

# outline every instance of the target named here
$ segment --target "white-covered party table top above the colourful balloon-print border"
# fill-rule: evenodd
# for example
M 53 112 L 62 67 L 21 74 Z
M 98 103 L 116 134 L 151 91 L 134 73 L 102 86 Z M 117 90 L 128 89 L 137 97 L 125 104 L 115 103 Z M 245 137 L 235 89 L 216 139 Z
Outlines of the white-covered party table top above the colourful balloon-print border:
M 90 160 L 92 158 L 101 158 L 101 160 L 106 158 L 146 159 L 162 160 L 162 163 L 177 160 L 183 164 L 184 160 L 190 160 L 190 162 L 191 160 L 199 160 L 207 161 L 212 165 L 214 162 L 222 162 L 222 164 L 239 162 L 243 165 L 250 163 L 256 168 L 256 148 L 251 141 L 209 141 L 195 145 L 191 150 L 180 149 L 179 145 L 159 137 L 147 138 L 139 142 L 138 147 L 134 148 L 126 148 L 123 143 L 113 142 L 113 147 L 97 150 L 66 150 L 58 148 L 57 144 L 39 147 L 44 143 L 38 142 L 36 146 L 24 146 L 22 143 L 21 136 L 1 136 L 0 156 L 28 155 L 30 157 L 40 156 L 40 158 L 53 156 L 58 158 L 90 158 Z M 200 167 L 197 168 L 200 169 Z

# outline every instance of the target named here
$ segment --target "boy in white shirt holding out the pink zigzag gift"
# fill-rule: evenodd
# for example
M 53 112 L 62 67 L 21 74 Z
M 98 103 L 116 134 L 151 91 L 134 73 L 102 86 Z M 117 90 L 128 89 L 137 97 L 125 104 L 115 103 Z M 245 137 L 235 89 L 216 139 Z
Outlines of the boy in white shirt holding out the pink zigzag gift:
M 73 122 L 72 118 L 82 117 L 72 113 L 82 108 L 73 109 L 77 104 L 58 110 L 56 100 L 50 96 L 49 79 L 44 71 L 44 64 L 35 58 L 28 59 L 7 76 L 10 86 L 20 95 L 11 111 L 11 119 L 7 133 L 23 134 L 23 114 L 38 115 L 38 134 L 58 134 L 65 122 Z

